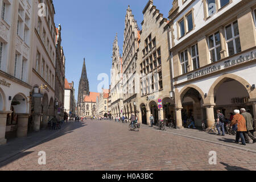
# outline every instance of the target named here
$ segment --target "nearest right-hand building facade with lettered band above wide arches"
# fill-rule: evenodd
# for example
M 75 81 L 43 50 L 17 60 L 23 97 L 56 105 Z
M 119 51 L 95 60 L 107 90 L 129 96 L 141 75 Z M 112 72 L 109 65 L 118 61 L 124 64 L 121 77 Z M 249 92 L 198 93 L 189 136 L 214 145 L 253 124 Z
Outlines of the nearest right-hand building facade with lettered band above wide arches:
M 168 41 L 177 126 L 187 115 L 212 127 L 217 109 L 229 118 L 244 107 L 255 118 L 255 14 L 255 1 L 173 2 Z

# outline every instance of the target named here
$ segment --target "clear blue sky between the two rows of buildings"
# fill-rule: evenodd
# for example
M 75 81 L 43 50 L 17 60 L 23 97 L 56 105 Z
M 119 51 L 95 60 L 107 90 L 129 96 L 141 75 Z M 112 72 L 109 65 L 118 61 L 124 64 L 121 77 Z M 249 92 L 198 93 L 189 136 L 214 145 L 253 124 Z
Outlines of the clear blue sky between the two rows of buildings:
M 61 24 L 62 28 L 61 45 L 66 57 L 65 76 L 69 82 L 75 83 L 76 100 L 84 57 L 90 92 L 97 92 L 97 85 L 100 83 L 97 76 L 100 73 L 110 75 L 116 33 L 122 53 L 128 5 L 141 28 L 142 11 L 147 2 L 148 0 L 53 0 L 55 24 L 56 27 Z M 167 18 L 172 0 L 154 0 L 154 5 Z

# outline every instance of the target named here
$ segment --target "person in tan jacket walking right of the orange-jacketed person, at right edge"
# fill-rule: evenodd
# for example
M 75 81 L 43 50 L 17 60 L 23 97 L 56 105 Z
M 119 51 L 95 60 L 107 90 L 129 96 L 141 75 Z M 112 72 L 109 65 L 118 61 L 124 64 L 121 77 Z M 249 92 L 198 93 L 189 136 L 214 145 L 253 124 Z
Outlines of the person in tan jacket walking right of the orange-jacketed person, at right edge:
M 246 121 L 246 132 L 245 132 L 245 142 L 250 143 L 249 137 L 253 140 L 253 143 L 256 142 L 256 138 L 253 136 L 253 117 L 250 113 L 246 112 L 245 108 L 241 110 L 242 116 L 245 118 Z

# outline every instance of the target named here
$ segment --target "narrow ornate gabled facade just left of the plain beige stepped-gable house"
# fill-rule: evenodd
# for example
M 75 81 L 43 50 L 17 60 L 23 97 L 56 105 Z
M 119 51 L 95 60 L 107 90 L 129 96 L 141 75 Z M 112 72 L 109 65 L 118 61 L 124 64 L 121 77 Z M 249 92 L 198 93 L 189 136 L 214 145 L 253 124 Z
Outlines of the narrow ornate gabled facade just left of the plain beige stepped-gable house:
M 125 16 L 125 30 L 123 33 L 123 114 L 130 118 L 131 113 L 137 114 L 137 93 L 139 83 L 137 73 L 139 30 L 137 21 L 128 6 Z

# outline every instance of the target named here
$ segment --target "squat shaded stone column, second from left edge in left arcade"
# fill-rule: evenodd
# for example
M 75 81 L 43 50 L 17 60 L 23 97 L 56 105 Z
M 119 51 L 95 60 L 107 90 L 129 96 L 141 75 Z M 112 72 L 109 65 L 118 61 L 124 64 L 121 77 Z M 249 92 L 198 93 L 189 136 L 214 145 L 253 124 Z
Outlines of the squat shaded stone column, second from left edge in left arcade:
M 18 114 L 17 137 L 27 137 L 28 114 Z

